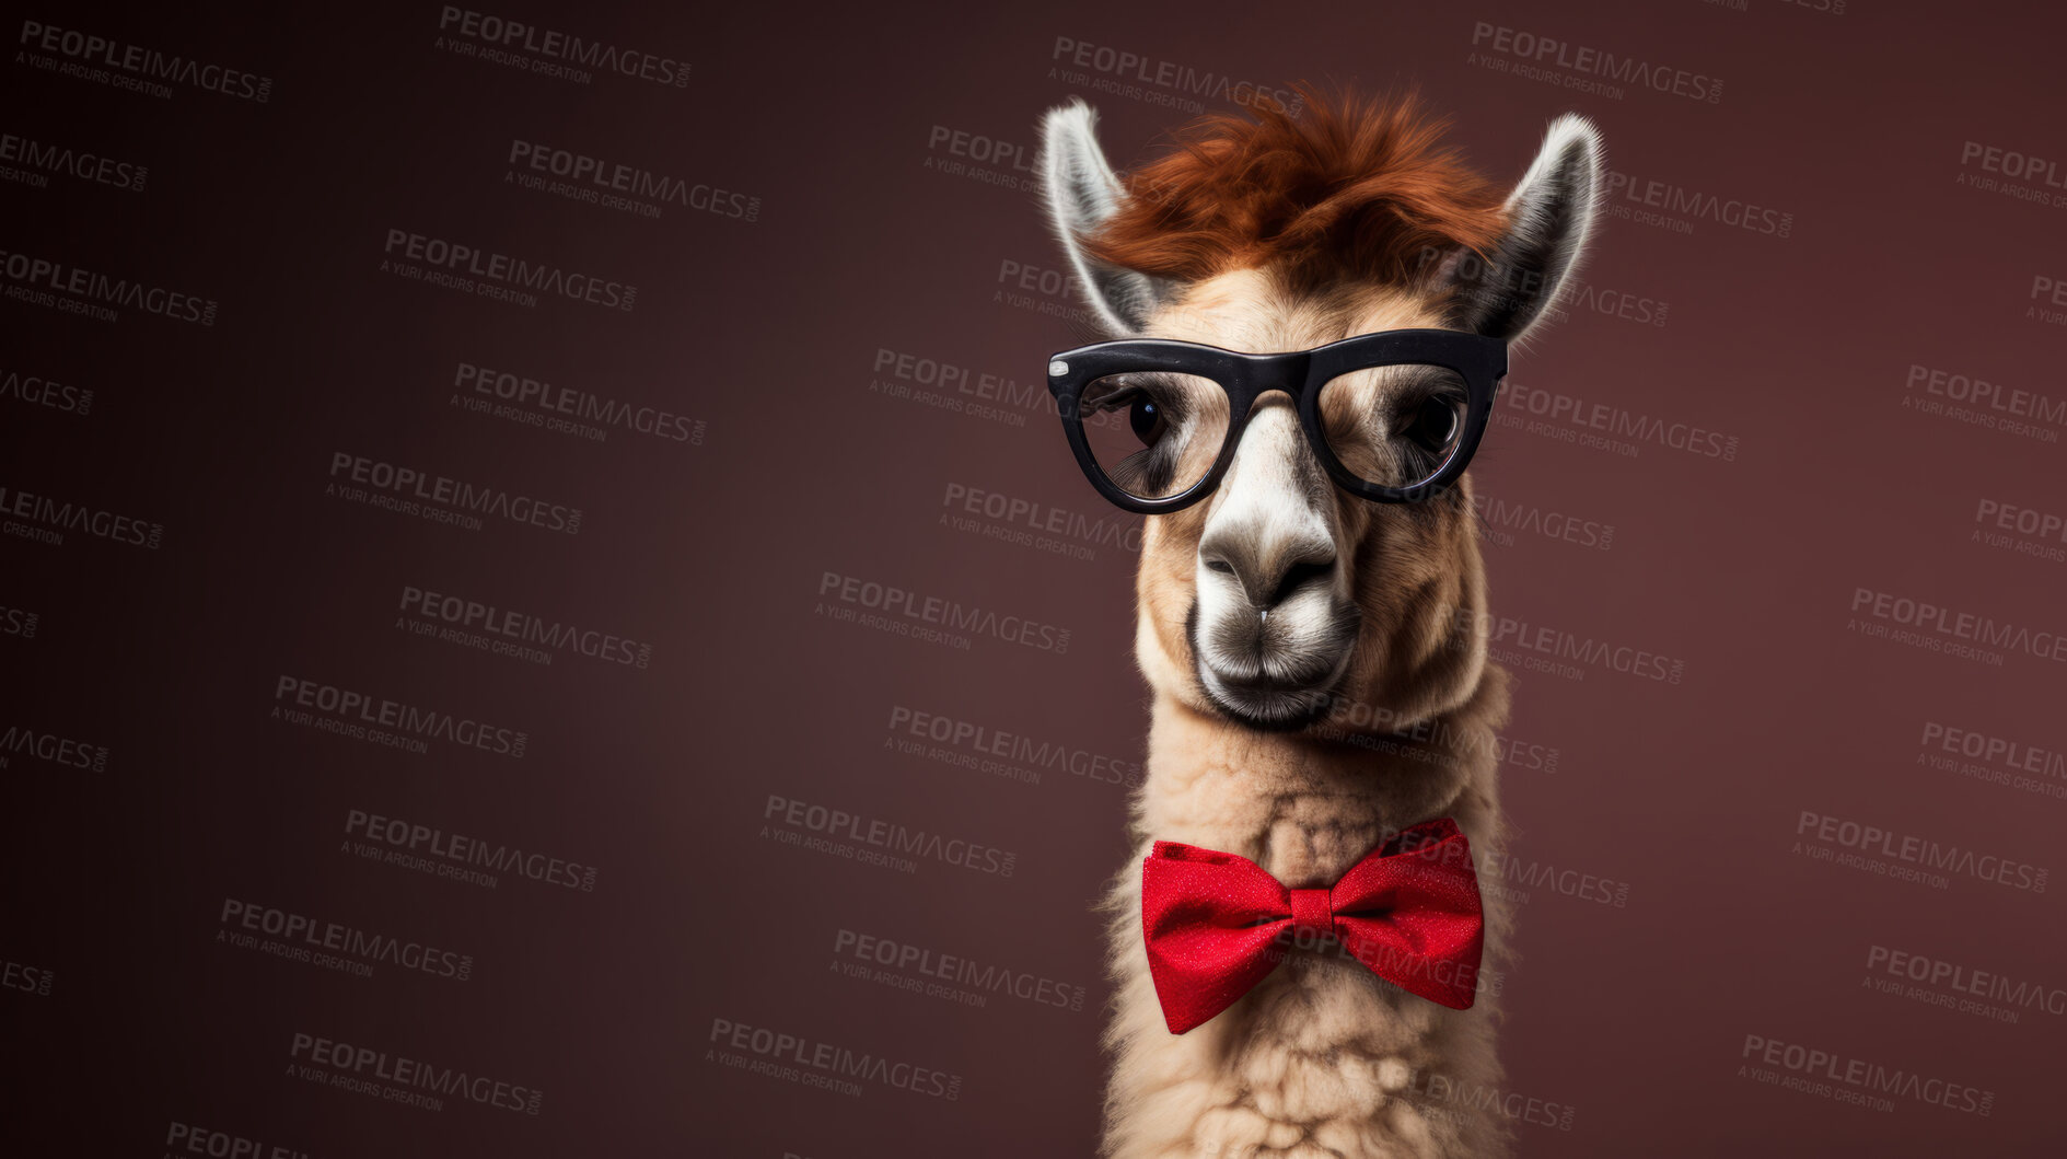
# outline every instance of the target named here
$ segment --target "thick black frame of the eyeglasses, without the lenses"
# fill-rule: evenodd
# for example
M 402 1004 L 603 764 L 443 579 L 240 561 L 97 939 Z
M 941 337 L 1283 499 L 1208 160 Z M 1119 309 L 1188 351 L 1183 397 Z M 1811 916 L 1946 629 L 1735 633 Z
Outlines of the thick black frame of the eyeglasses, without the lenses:
M 1321 388 L 1344 374 L 1379 366 L 1441 366 L 1453 370 L 1466 384 L 1463 432 L 1457 448 L 1437 467 L 1434 475 L 1406 488 L 1372 483 L 1344 467 L 1321 426 Z M 1207 378 L 1228 395 L 1228 432 L 1222 436 L 1220 457 L 1197 483 L 1158 500 L 1133 496 L 1108 479 L 1083 434 L 1083 388 L 1112 374 L 1143 372 Z M 1228 467 L 1234 465 L 1234 452 L 1255 415 L 1257 399 L 1271 390 L 1292 395 L 1306 444 L 1313 446 L 1315 459 L 1321 461 L 1337 488 L 1370 502 L 1434 498 L 1470 467 L 1472 455 L 1478 452 L 1478 442 L 1486 434 L 1486 424 L 1492 419 L 1492 401 L 1499 397 L 1505 376 L 1505 339 L 1434 328 L 1372 331 L 1323 347 L 1284 353 L 1244 353 L 1176 339 L 1116 339 L 1062 351 L 1048 359 L 1048 393 L 1054 395 L 1062 434 L 1077 455 L 1077 465 L 1083 467 L 1083 475 L 1091 479 L 1098 494 L 1137 514 L 1170 514 L 1213 494 Z

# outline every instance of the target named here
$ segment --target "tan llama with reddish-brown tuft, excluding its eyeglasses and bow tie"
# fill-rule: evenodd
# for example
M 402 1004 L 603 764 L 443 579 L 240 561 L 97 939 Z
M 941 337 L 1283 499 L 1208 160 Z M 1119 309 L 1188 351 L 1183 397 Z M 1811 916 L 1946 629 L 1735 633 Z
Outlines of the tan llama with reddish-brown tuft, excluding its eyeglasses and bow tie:
M 1443 328 L 1519 343 L 1585 246 L 1600 138 L 1579 116 L 1554 120 L 1501 196 L 1443 132 L 1414 97 L 1308 93 L 1296 120 L 1261 107 L 1201 118 L 1122 184 L 1096 112 L 1071 101 L 1042 122 L 1050 225 L 1120 339 L 1259 353 Z M 1215 405 L 1191 380 L 1160 388 L 1182 401 L 1131 403 L 1143 442 L 1172 438 L 1153 434 L 1170 405 Z M 1341 459 L 1381 469 L 1412 457 L 1401 438 L 1455 421 L 1426 419 L 1428 401 L 1383 376 L 1362 401 L 1381 419 L 1331 415 L 1329 430 L 1366 442 Z M 1387 407 L 1412 413 L 1383 417 Z M 1486 973 L 1470 1008 L 1418 998 L 1327 940 L 1277 952 L 1275 969 L 1186 1033 L 1166 1025 L 1151 977 L 1141 888 L 1158 841 L 1246 857 L 1290 890 L 1329 886 L 1434 818 L 1455 820 L 1478 864 L 1503 845 L 1494 733 L 1509 694 L 1474 630 L 1486 576 L 1470 481 L 1370 502 L 1331 485 L 1308 438 L 1288 393 L 1259 395 L 1211 494 L 1145 521 L 1135 661 L 1153 694 L 1147 779 L 1131 802 L 1137 855 L 1106 899 L 1112 1159 L 1511 1145 L 1484 1097 L 1503 1080 L 1484 985 L 1509 961 L 1499 890 L 1484 892 Z

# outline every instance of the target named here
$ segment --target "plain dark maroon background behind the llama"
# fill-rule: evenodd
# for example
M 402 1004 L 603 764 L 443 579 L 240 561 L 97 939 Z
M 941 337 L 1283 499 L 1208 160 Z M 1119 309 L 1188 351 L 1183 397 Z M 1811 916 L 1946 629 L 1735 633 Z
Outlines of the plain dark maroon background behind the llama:
M 1002 262 L 1062 264 L 1027 161 L 992 184 L 928 145 L 945 126 L 1029 157 L 1042 109 L 1083 95 L 1131 165 L 1189 120 L 1054 74 L 1056 37 L 1269 85 L 1416 83 L 1503 182 L 1550 116 L 1579 109 L 1637 184 L 1792 215 L 1786 238 L 1606 219 L 1585 281 L 1666 304 L 1664 324 L 1571 308 L 1515 357 L 1517 384 L 1736 436 L 1734 461 L 1494 426 L 1474 467 L 1499 500 L 1614 529 L 1610 550 L 1488 543 L 1497 614 L 1685 661 L 1678 684 L 1517 674 L 1509 731 L 1556 769 L 1505 773 L 1515 857 L 1629 886 L 1627 907 L 1528 890 L 1509 1091 L 1575 1114 L 1519 1122 L 1519 1149 L 2067 1140 L 2059 1014 L 2001 1023 L 1864 981 L 1879 944 L 2067 985 L 2059 892 L 1931 888 L 1794 849 L 1807 810 L 2057 857 L 2057 773 L 2022 791 L 1937 771 L 1918 735 L 1937 721 L 2067 746 L 2063 669 L 1848 626 L 1873 589 L 2067 628 L 2057 556 L 1974 539 L 1980 500 L 2067 512 L 2061 424 L 2030 438 L 1904 405 L 1910 366 L 2067 397 L 2067 328 L 2030 312 L 2034 277 L 2067 279 L 2067 209 L 1962 184 L 1991 176 L 1962 165 L 1968 140 L 2067 165 L 2057 17 L 1871 0 L 1680 0 L 1641 25 L 1612 4 L 482 10 L 692 72 L 583 85 L 461 58 L 434 45 L 438 4 L 8 6 L 10 37 L 29 19 L 273 79 L 265 103 L 178 85 L 155 99 L 39 70 L 21 45 L 0 70 L 0 132 L 149 165 L 143 192 L 0 182 L 0 250 L 219 302 L 196 326 L 0 300 L 0 374 L 93 390 L 87 415 L 0 397 L 0 485 L 165 529 L 159 550 L 0 537 L 0 607 L 37 614 L 33 636 L 0 636 L 0 727 L 110 754 L 99 773 L 21 752 L 0 766 L 0 959 L 54 977 L 50 994 L 0 990 L 8 1151 L 155 1155 L 174 1122 L 320 1157 L 1091 1151 L 1108 990 L 1089 905 L 1127 857 L 1124 791 L 907 756 L 887 721 L 907 707 L 1139 760 L 1135 558 L 940 523 L 951 483 L 1118 519 L 1050 413 L 1019 407 L 1015 426 L 870 388 L 893 380 L 872 370 L 881 349 L 1025 384 L 1087 337 L 1054 314 L 1067 295 L 1036 293 L 1050 312 L 998 295 Z M 1724 95 L 1501 74 L 1472 60 L 1478 23 L 1720 76 Z M 521 190 L 513 138 L 738 190 L 759 215 L 643 219 Z M 597 271 L 635 283 L 637 308 L 401 281 L 378 273 L 391 227 Z M 457 362 L 680 411 L 705 436 L 587 442 L 471 415 L 449 401 Z M 581 506 L 581 533 L 469 533 L 327 498 L 335 450 Z M 959 651 L 839 624 L 816 612 L 825 572 L 1071 643 Z M 649 640 L 653 663 L 422 640 L 395 628 L 403 585 Z M 291 727 L 271 719 L 281 674 L 506 723 L 529 752 L 413 756 Z M 899 874 L 783 845 L 763 835 L 771 793 L 996 845 L 1015 872 Z M 351 808 L 597 866 L 597 884 L 480 888 L 362 862 L 339 851 Z M 473 977 L 362 979 L 229 948 L 225 897 L 451 946 Z M 965 1006 L 854 979 L 833 969 L 852 961 L 843 928 L 1089 998 Z M 959 1097 L 750 1074 L 713 1058 L 713 1019 L 934 1066 Z M 298 1031 L 542 1089 L 542 1114 L 306 1083 Z M 1993 1107 L 1784 1091 L 1740 1076 L 1747 1035 L 1966 1083 Z

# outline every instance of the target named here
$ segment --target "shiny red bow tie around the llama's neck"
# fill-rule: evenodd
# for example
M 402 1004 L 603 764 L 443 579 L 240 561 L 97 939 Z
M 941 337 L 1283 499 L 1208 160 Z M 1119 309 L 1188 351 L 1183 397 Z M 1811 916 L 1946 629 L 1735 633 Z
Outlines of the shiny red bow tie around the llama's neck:
M 1158 841 L 1141 864 L 1141 930 L 1172 1035 L 1248 994 L 1300 932 L 1457 1010 L 1476 998 L 1486 944 L 1472 845 L 1449 818 L 1401 831 L 1331 888 L 1286 888 L 1248 857 Z

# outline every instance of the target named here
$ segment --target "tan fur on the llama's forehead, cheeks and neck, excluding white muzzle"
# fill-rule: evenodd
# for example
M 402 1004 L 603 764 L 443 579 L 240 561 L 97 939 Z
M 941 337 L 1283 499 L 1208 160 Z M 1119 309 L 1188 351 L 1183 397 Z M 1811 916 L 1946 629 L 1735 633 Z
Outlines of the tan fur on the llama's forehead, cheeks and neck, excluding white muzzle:
M 1145 333 L 1306 349 L 1439 326 L 1439 310 L 1399 287 L 1315 297 L 1269 271 L 1236 271 L 1193 285 Z M 1269 395 L 1259 405 L 1290 399 Z M 1439 1089 L 1499 1087 L 1497 1000 L 1484 990 L 1474 1008 L 1449 1010 L 1339 954 L 1296 950 L 1211 1023 L 1186 1035 L 1164 1027 L 1141 944 L 1141 857 L 1153 841 L 1240 853 L 1298 888 L 1331 884 L 1383 837 L 1439 816 L 1457 820 L 1480 864 L 1503 839 L 1492 733 L 1507 717 L 1507 680 L 1470 630 L 1486 609 L 1470 483 L 1420 510 L 1335 492 L 1337 550 L 1364 620 L 1341 711 L 1294 733 L 1213 713 L 1193 669 L 1184 616 L 1201 529 L 1220 498 L 1149 519 L 1143 537 L 1135 657 L 1153 711 L 1147 781 L 1133 800 L 1137 849 L 1108 897 L 1118 994 L 1106 1035 L 1116 1054 L 1106 1153 L 1501 1155 L 1507 1126 L 1494 1111 L 1424 1095 L 1430 1074 Z M 1414 725 L 1428 725 L 1416 735 L 1430 740 L 1389 735 Z M 1497 890 L 1484 901 L 1484 969 L 1499 971 L 1509 913 Z

